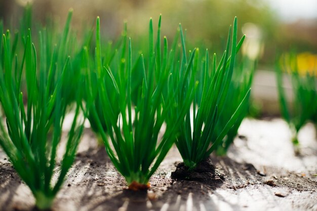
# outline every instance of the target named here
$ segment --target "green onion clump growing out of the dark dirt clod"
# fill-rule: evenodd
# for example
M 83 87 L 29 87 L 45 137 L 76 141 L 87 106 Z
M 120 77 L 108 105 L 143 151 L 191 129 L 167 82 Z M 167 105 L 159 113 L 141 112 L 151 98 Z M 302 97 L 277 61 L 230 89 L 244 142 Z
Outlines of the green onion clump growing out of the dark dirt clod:
M 216 55 L 213 56 L 213 63 L 209 68 L 209 54 L 206 51 L 203 65 L 201 65 L 200 85 L 193 99 L 191 110 L 187 110 L 183 119 L 176 146 L 183 158 L 184 164 L 189 170 L 193 170 L 198 163 L 208 156 L 222 143 L 228 131 L 239 120 L 248 101 L 250 90 L 242 94 L 242 98 L 234 99 L 231 103 L 225 104 L 226 99 L 231 95 L 230 85 L 235 62 L 235 55 L 240 50 L 243 40 L 237 42 L 237 19 L 233 22 L 233 34 L 231 41 L 231 26 L 227 39 L 227 47 L 219 63 Z M 181 39 L 184 43 L 184 35 L 181 30 Z M 229 53 L 231 42 L 231 53 Z M 193 68 L 199 68 L 198 59 Z M 211 71 L 209 71 L 211 69 Z M 184 95 L 184 93 L 180 93 Z M 180 96 L 175 98 L 177 103 L 182 103 Z M 238 96 L 233 96 L 237 98 Z M 192 117 L 191 117 L 192 116 Z M 218 123 L 220 122 L 220 123 Z M 216 132 L 216 126 L 219 132 Z

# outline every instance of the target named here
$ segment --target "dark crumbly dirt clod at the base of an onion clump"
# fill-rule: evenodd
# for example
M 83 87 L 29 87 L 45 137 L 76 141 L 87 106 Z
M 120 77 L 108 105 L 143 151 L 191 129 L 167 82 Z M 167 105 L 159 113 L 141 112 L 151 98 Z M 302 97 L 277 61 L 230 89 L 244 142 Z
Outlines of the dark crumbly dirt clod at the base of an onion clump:
M 196 168 L 192 171 L 188 170 L 183 162 L 176 165 L 175 172 L 172 172 L 171 178 L 174 180 L 189 180 L 199 182 L 213 182 L 218 181 L 222 183 L 223 176 L 215 171 L 215 166 L 208 158 L 201 163 L 197 164 Z

